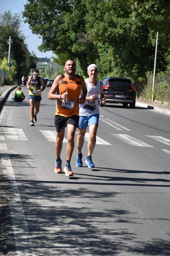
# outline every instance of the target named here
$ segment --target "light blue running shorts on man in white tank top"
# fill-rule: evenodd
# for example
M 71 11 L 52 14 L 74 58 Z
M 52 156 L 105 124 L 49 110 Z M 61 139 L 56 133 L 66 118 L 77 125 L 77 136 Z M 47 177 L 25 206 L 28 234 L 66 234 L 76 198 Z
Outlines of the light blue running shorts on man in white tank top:
M 92 116 L 79 116 L 79 129 L 85 129 L 89 125 L 97 125 L 99 123 L 99 114 Z

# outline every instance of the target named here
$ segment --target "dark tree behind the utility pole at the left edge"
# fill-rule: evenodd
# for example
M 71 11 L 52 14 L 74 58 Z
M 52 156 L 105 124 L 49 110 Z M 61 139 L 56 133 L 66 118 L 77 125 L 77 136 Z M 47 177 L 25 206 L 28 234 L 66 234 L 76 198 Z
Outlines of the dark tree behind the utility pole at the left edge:
M 17 73 L 14 80 L 20 81 L 23 75 L 28 75 L 31 68 L 36 67 L 36 56 L 28 51 L 25 44 L 25 36 L 21 32 L 20 15 L 11 15 L 11 12 L 0 14 L 0 58 L 8 58 L 7 41 L 9 36 L 13 41 L 11 45 L 11 61 L 15 61 Z

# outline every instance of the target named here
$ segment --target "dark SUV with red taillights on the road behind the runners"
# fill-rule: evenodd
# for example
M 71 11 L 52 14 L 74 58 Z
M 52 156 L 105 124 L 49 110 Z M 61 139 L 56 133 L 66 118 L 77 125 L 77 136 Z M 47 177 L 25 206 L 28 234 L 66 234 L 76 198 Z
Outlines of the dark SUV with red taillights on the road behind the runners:
M 102 82 L 106 103 L 122 103 L 124 108 L 129 104 L 135 108 L 136 87 L 129 78 L 107 76 Z M 99 101 L 99 105 L 103 106 L 102 102 Z

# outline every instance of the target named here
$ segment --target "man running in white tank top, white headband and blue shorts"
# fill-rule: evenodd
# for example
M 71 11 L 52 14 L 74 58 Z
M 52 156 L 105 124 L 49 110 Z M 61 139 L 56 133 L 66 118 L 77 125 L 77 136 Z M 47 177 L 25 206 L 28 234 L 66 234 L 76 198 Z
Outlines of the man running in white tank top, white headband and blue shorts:
M 103 83 L 97 80 L 98 67 L 96 64 L 88 66 L 88 79 L 85 79 L 87 87 L 87 96 L 85 103 L 79 105 L 79 131 L 77 135 L 77 161 L 78 167 L 82 166 L 82 146 L 84 143 L 84 137 L 87 127 L 89 128 L 89 141 L 88 141 L 88 155 L 85 163 L 88 168 L 94 168 L 91 155 L 94 151 L 96 144 L 96 133 L 99 122 L 99 99 L 102 104 L 105 105 L 105 98 L 103 95 Z

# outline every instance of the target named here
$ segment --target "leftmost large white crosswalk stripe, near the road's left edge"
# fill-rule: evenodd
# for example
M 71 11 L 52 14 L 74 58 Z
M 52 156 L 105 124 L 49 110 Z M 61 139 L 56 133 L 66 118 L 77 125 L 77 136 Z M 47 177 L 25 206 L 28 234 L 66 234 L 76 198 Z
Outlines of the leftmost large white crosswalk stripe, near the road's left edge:
M 4 128 L 4 135 L 8 140 L 27 140 L 23 129 L 19 128 Z

